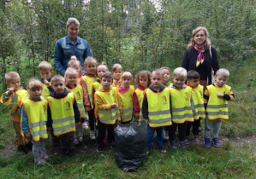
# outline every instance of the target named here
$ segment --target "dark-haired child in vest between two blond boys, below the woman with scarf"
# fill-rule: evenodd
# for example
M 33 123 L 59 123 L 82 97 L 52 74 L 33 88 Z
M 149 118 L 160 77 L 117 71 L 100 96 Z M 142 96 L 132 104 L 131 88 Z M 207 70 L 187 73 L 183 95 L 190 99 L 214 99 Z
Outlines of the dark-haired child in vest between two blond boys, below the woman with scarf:
M 188 144 L 188 136 L 190 134 L 191 125 L 193 125 L 193 139 L 196 143 L 199 143 L 199 123 L 201 118 L 205 118 L 205 107 L 204 107 L 204 86 L 199 84 L 200 75 L 194 70 L 190 70 L 187 73 L 187 84 L 192 90 L 193 97 L 193 122 L 187 123 L 187 131 L 185 142 Z

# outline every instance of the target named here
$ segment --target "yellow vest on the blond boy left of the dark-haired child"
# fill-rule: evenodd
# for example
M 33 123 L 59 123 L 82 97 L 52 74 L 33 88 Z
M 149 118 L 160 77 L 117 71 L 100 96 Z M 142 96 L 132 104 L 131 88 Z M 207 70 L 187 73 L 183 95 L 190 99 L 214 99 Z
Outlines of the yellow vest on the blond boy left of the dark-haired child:
M 182 124 L 185 121 L 193 122 L 193 112 L 190 104 L 192 88 L 186 86 L 185 89 L 177 90 L 170 88 L 172 121 Z

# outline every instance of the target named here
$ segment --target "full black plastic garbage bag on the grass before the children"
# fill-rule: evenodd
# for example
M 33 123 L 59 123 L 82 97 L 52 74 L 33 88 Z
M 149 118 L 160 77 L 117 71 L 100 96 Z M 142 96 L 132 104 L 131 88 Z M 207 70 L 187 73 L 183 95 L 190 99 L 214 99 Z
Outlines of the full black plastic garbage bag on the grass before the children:
M 146 120 L 117 125 L 115 154 L 118 167 L 126 172 L 136 170 L 146 157 L 147 141 Z

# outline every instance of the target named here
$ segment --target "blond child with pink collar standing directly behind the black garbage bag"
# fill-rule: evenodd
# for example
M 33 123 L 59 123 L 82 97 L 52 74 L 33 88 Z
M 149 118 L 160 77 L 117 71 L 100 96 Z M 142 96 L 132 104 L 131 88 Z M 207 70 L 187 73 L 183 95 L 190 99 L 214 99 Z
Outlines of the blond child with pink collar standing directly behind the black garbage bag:
M 133 85 L 131 85 L 132 82 L 132 74 L 130 72 L 123 72 L 122 84 L 117 90 L 122 101 L 122 113 L 120 113 L 121 124 L 129 124 L 133 118 L 135 88 Z

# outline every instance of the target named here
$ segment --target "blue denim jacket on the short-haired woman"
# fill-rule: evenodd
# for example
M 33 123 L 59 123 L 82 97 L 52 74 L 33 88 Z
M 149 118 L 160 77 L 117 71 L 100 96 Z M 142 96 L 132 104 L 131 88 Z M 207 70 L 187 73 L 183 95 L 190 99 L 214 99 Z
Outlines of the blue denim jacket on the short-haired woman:
M 57 40 L 55 46 L 54 63 L 57 70 L 64 75 L 68 68 L 68 61 L 71 56 L 75 55 L 77 60 L 80 61 L 80 66 L 84 68 L 86 57 L 91 56 L 90 48 L 86 40 L 76 37 L 72 42 L 67 35 L 65 38 Z

